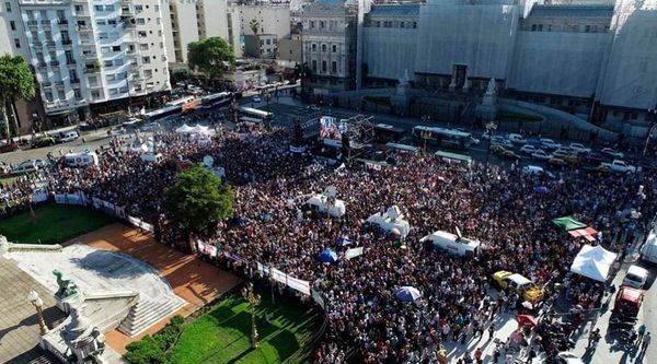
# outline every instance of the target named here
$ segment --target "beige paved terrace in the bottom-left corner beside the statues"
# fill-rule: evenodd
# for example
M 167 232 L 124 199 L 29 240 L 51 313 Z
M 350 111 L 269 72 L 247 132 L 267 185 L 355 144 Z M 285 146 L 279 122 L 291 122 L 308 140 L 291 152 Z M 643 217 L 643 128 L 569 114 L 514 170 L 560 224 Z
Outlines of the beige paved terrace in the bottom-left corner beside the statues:
M 65 314 L 55 306 L 53 293 L 13 261 L 0 257 L 0 363 L 32 363 L 39 359 L 47 363 L 38 347 L 36 310 L 27 301 L 27 294 L 32 290 L 38 292 L 49 328 L 57 326 Z

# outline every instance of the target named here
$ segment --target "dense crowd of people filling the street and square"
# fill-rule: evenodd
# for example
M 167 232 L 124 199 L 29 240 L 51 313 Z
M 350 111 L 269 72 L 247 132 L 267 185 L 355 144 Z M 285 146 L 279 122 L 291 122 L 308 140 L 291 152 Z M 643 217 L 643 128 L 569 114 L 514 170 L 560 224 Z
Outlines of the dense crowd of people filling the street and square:
M 619 211 L 637 209 L 644 216 L 639 224 L 656 212 L 655 176 L 644 173 L 575 171 L 532 177 L 518 168 L 466 166 L 422 153 L 395 154 L 394 163 L 380 171 L 364 165 L 335 168 L 311 155 L 291 154 L 288 140 L 279 129 L 249 134 L 219 129 L 206 143 L 164 134 L 154 141 L 163 163 L 147 164 L 137 153 L 113 148 L 96 166 L 58 166 L 39 178 L 48 180 L 50 192 L 81 190 L 152 220 L 162 213 L 163 190 L 181 161 L 214 156 L 234 186 L 234 216 L 242 223 L 221 222 L 205 238 L 222 257 L 273 265 L 323 293 L 328 330 L 315 353 L 318 363 L 344 363 L 347 347 L 365 363 L 433 363 L 441 343 L 468 342 L 488 330 L 492 339 L 496 313 L 516 309 L 523 301 L 514 292 L 491 296 L 492 273 L 518 272 L 548 287 L 566 278 L 583 242 L 555 228 L 552 219 L 573 215 L 596 227 L 598 243 L 609 247 L 623 227 Z M 345 201 L 344 216 L 324 219 L 301 211 L 308 193 L 328 186 Z M 539 186 L 546 192 L 537 192 Z M 25 181 L 4 188 L 1 203 L 20 203 L 36 187 Z M 365 224 L 369 215 L 393 204 L 412 226 L 403 244 L 396 235 Z M 457 227 L 482 242 L 479 257 L 451 257 L 419 243 L 437 230 Z M 344 237 L 354 245 L 337 246 Z M 611 248 L 620 251 L 622 243 Z M 342 256 L 355 246 L 365 248 L 362 256 L 335 263 L 318 259 L 324 248 Z M 253 272 L 249 263 L 235 268 Z M 568 295 L 577 303 L 600 298 L 596 284 L 566 281 L 573 282 Z M 396 300 L 395 290 L 406 285 L 422 292 L 418 302 Z

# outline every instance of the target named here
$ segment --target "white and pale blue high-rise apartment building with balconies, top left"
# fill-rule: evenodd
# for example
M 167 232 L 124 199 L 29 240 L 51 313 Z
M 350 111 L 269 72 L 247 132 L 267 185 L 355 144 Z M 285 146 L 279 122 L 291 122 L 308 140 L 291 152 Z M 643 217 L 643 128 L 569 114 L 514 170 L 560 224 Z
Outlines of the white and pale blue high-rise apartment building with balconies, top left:
M 8 7 L 9 40 L 0 50 L 33 66 L 48 117 L 171 89 L 158 0 L 9 0 L 5 13 Z

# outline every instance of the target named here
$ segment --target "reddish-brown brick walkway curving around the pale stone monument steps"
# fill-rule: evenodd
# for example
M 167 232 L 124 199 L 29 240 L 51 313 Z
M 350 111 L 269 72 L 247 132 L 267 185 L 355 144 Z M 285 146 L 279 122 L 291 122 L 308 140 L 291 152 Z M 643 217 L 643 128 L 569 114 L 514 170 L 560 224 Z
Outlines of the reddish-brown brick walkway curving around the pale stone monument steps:
M 175 251 L 157 243 L 152 235 L 141 234 L 138 230 L 123 224 L 102 227 L 71 243 L 78 242 L 99 249 L 128 254 L 153 266 L 169 281 L 175 294 L 188 303 L 174 315 L 188 316 L 241 281 L 234 274 L 195 259 L 194 256 Z M 136 338 L 128 338 L 118 330 L 107 332 L 107 343 L 115 351 L 124 353 L 128 343 L 147 333 L 157 332 L 168 321 L 169 318 L 158 322 Z

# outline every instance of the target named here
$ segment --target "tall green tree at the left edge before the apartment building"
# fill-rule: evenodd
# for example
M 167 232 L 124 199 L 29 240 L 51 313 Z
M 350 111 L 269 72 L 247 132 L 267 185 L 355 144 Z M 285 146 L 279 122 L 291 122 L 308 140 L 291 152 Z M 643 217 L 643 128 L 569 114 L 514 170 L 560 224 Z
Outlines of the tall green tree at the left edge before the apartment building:
M 32 98 L 34 93 L 34 77 L 23 57 L 11 55 L 0 57 L 0 113 L 7 128 L 8 142 L 11 139 L 11 130 L 7 104 L 19 98 Z M 15 116 L 13 120 L 14 129 L 18 131 Z

